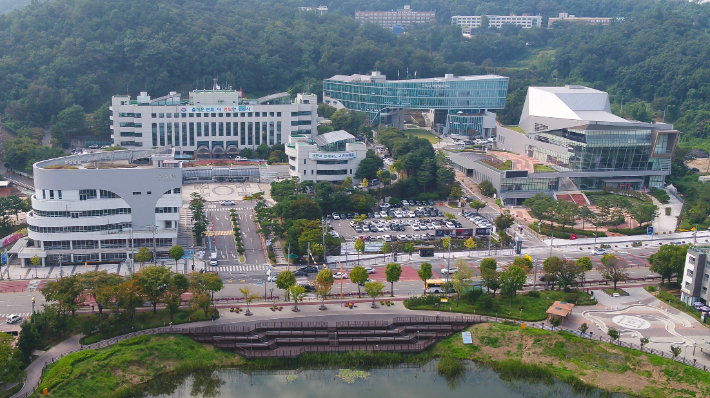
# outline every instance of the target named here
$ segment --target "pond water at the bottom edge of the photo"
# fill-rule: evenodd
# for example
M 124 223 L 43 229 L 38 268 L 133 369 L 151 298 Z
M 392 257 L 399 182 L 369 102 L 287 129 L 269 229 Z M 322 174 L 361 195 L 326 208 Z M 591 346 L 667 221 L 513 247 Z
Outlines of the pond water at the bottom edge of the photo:
M 359 370 L 282 370 L 243 372 L 235 369 L 200 370 L 167 375 L 144 386 L 141 398 L 263 398 L 263 397 L 427 397 L 471 396 L 495 398 L 626 397 L 600 390 L 577 392 L 562 382 L 504 381 L 487 366 L 465 362 L 458 377 L 444 377 L 437 362 Z

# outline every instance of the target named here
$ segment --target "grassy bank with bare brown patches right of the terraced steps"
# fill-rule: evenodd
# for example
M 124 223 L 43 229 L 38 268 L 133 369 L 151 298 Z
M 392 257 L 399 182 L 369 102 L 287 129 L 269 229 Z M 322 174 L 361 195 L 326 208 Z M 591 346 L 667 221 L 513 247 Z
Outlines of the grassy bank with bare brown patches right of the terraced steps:
M 431 354 L 490 363 L 504 380 L 557 378 L 581 390 L 592 386 L 649 398 L 710 396 L 710 374 L 637 350 L 514 324 L 467 330 L 473 344 L 463 345 L 455 333 Z

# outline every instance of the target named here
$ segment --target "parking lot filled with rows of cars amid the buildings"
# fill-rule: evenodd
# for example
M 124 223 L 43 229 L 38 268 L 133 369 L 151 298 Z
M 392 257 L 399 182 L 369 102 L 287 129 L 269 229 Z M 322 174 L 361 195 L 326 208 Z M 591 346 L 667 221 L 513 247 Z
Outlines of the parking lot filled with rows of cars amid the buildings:
M 381 207 L 377 212 L 373 210 L 368 213 L 367 219 L 359 223 L 354 220 L 357 213 L 331 214 L 328 222 L 332 228 L 331 233 L 348 242 L 358 237 L 365 241 L 431 241 L 444 235 L 464 238 L 475 236 L 477 229 L 480 236 L 483 235 L 481 228 L 493 230 L 492 223 L 482 216 L 474 218 L 474 213 L 464 210 L 467 218 L 460 209 L 431 203 L 415 202 L 414 205 Z M 445 213 L 453 214 L 455 219 L 448 220 Z M 341 215 L 345 219 L 341 219 Z M 440 232 L 437 234 L 437 231 Z

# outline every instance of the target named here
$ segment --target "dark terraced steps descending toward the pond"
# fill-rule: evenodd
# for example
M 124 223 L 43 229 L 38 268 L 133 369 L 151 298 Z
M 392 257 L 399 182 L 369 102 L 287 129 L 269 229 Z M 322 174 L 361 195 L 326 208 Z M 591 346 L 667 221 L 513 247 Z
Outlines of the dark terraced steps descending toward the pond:
M 297 357 L 304 352 L 421 352 L 439 338 L 485 322 L 485 317 L 397 317 L 388 321 L 258 322 L 254 328 L 207 326 L 180 328 L 201 343 L 235 350 L 247 358 Z

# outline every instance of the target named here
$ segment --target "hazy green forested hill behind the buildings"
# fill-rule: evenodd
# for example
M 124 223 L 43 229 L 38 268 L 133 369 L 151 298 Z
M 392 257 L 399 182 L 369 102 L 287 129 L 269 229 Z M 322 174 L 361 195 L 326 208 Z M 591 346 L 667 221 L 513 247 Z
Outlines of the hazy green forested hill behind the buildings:
M 326 4 L 319 17 L 298 6 Z M 414 0 L 440 24 L 395 36 L 353 19 L 393 0 L 51 0 L 0 15 L 0 110 L 5 125 L 47 126 L 73 105 L 91 112 L 113 94 L 209 87 L 213 77 L 247 95 L 320 92 L 335 74 L 381 70 L 394 78 L 495 72 L 511 77 L 517 122 L 530 84 L 589 84 L 615 111 L 650 120 L 666 111 L 685 137 L 710 133 L 710 5 L 626 0 Z M 558 12 L 623 17 L 611 26 L 508 26 L 466 39 L 450 15 Z M 539 55 L 538 55 L 539 53 Z M 501 66 L 516 66 L 501 68 Z M 100 133 L 101 129 L 95 129 Z M 692 132 L 691 132 L 692 131 Z M 690 133 L 690 134 L 688 134 Z

